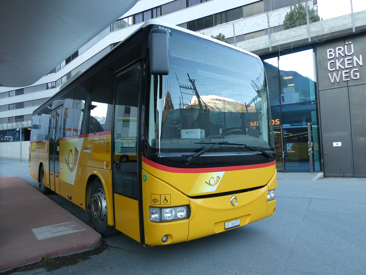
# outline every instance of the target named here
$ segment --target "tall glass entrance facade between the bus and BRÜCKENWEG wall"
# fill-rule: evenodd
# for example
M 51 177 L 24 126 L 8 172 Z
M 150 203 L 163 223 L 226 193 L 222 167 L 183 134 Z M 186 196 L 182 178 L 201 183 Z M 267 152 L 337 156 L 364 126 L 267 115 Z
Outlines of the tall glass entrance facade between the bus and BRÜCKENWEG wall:
M 264 59 L 263 63 L 276 136 L 277 170 L 320 171 L 313 49 L 283 53 Z

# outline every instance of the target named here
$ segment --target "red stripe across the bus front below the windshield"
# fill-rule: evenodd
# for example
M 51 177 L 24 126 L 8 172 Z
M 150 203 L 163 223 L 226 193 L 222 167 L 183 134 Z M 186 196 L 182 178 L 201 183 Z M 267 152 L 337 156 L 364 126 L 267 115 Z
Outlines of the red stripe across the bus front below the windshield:
M 158 164 L 156 162 L 150 161 L 145 157 L 142 157 L 142 161 L 145 162 L 145 164 L 152 166 L 153 168 L 172 173 L 210 173 L 210 172 L 222 172 L 222 171 L 226 172 L 226 171 L 264 168 L 276 164 L 276 161 L 271 161 L 262 164 L 239 165 L 239 166 L 223 166 L 223 167 L 210 167 L 210 168 L 175 168 Z

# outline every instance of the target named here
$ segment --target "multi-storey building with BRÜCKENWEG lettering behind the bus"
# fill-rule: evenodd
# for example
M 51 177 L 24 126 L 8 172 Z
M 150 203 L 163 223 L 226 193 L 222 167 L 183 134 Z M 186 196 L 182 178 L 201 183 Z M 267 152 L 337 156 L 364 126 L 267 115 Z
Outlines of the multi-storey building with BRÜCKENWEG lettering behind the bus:
M 361 0 L 310 0 L 301 7 L 290 7 L 297 3 L 138 1 L 33 85 L 0 87 L 0 154 L 17 150 L 11 145 L 19 141 L 19 126 L 24 131 L 22 140 L 29 140 L 32 111 L 59 91 L 61 84 L 102 58 L 142 22 L 158 18 L 220 38 L 263 59 L 279 171 L 365 177 L 362 142 L 366 128 L 362 123 L 366 113 L 361 104 L 366 99 L 362 66 L 366 55 L 365 4 Z M 291 18 L 294 10 L 299 11 L 301 20 Z

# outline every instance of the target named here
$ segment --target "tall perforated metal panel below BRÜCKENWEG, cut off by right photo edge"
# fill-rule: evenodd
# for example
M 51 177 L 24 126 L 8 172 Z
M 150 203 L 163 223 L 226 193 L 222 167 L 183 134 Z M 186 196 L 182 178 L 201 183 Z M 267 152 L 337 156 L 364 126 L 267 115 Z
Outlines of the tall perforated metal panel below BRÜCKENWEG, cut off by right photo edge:
M 355 177 L 366 177 L 366 84 L 352 86 L 349 91 Z

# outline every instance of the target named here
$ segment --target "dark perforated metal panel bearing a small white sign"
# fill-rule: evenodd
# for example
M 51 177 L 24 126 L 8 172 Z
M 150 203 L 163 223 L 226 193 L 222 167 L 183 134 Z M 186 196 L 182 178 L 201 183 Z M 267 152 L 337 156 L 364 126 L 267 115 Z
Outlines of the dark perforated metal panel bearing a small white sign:
M 336 143 L 336 144 L 334 144 Z M 341 145 L 341 146 L 339 146 Z M 353 177 L 350 134 L 323 136 L 324 176 Z

